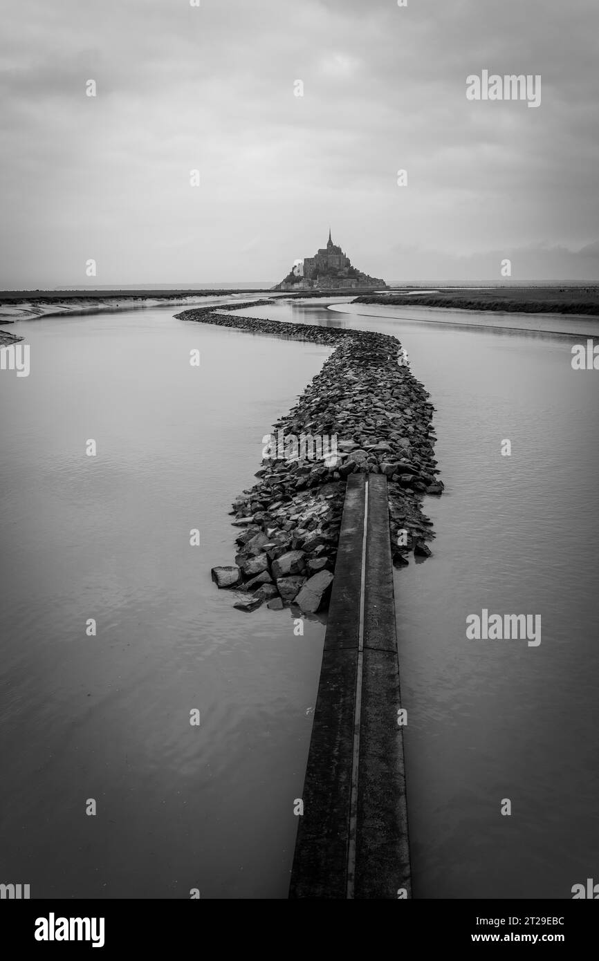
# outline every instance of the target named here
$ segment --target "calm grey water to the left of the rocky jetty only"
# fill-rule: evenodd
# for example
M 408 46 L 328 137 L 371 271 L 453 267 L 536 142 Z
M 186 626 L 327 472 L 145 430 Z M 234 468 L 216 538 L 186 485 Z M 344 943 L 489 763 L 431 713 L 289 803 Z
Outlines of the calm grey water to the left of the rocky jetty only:
M 331 352 L 172 313 L 11 328 L 31 374 L 0 374 L 0 880 L 32 898 L 287 897 L 324 629 L 234 610 L 210 568 Z

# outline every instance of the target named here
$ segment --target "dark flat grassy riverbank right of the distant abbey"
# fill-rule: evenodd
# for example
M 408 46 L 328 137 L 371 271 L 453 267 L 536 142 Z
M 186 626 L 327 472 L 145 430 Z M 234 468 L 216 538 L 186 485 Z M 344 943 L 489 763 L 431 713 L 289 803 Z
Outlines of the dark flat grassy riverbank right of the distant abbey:
M 454 310 L 493 310 L 513 313 L 564 313 L 599 316 L 599 287 L 439 287 L 434 291 L 417 288 L 391 294 L 365 294 L 355 304 L 381 304 L 411 307 L 452 308 Z

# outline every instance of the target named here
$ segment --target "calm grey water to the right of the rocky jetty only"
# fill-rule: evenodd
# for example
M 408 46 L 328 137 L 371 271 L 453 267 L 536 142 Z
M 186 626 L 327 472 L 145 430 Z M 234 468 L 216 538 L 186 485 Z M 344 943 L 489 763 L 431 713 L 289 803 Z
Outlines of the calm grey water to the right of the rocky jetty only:
M 287 319 L 394 333 L 437 407 L 434 557 L 395 572 L 414 897 L 570 898 L 599 864 L 599 372 L 569 334 L 599 321 L 373 309 Z M 540 614 L 540 645 L 467 641 L 483 607 Z

